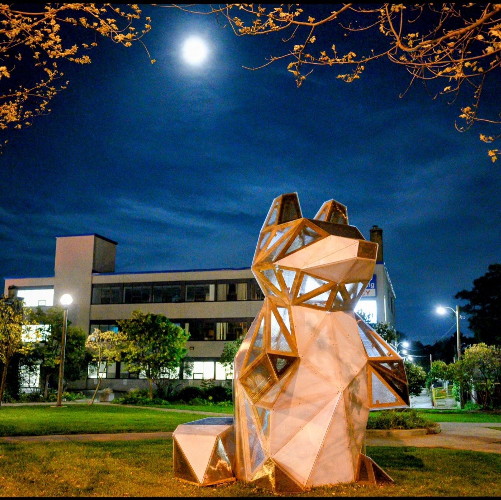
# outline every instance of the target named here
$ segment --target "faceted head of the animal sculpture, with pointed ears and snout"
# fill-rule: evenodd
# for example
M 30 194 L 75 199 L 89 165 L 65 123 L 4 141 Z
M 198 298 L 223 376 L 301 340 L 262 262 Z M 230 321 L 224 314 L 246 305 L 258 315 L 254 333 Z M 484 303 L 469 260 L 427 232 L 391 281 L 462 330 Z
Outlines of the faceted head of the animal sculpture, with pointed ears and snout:
M 346 206 L 326 201 L 304 218 L 297 193 L 273 200 L 252 270 L 263 292 L 286 304 L 351 311 L 372 278 L 377 243 L 348 224 Z

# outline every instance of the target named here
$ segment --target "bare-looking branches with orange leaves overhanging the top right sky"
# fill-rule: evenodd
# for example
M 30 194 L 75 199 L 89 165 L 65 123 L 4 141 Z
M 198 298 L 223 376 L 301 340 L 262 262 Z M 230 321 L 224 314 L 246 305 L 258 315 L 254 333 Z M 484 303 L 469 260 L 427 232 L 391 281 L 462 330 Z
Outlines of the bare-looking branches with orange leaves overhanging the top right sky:
M 328 7 L 225 4 L 206 5 L 197 10 L 191 6 L 174 7 L 194 14 L 223 17 L 225 25 L 229 24 L 236 36 L 279 33 L 286 44 L 282 54 L 271 55 L 265 64 L 247 69 L 256 70 L 283 60 L 288 62 L 287 70 L 294 75 L 298 87 L 316 66 L 339 68 L 337 78 L 351 83 L 361 77 L 368 64 L 386 58 L 407 70 L 408 88 L 421 81 L 434 97 L 452 97 L 450 103 L 464 89 L 471 101 L 461 106 L 459 117 L 464 120 L 464 126 L 456 125 L 456 129 L 463 132 L 481 122 L 489 129 L 494 126 L 496 131 L 492 135 L 480 134 L 481 141 L 491 143 L 501 137 L 499 109 L 492 110 L 487 105 L 486 114 L 479 114 L 485 82 L 495 83 L 499 78 L 501 4 Z M 436 83 L 434 88 L 432 83 Z M 488 151 L 493 162 L 497 154 L 498 149 Z

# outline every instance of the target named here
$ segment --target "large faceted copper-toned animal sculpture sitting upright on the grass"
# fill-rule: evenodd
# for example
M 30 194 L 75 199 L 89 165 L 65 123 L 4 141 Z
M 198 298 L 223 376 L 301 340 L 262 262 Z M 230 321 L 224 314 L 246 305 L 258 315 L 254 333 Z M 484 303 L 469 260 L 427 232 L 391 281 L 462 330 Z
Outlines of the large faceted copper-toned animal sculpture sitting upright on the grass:
M 377 243 L 325 202 L 276 198 L 252 271 L 266 298 L 234 359 L 234 474 L 277 492 L 391 481 L 362 454 L 369 410 L 409 405 L 402 358 L 353 309 Z

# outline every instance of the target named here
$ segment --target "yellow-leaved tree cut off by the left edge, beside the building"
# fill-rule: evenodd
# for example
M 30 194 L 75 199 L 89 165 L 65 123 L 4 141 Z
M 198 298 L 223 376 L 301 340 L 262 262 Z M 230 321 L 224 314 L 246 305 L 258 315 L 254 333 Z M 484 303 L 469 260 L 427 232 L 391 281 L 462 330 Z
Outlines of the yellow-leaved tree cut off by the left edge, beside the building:
M 28 311 L 26 311 L 28 313 Z M 9 299 L 6 296 L 0 297 L 0 361 L 3 364 L 2 382 L 0 383 L 0 408 L 5 391 L 5 381 L 7 370 L 12 358 L 16 354 L 27 354 L 33 349 L 33 342 L 26 340 L 36 340 L 34 338 L 23 338 L 29 335 L 27 330 L 30 322 L 25 319 L 23 301 Z

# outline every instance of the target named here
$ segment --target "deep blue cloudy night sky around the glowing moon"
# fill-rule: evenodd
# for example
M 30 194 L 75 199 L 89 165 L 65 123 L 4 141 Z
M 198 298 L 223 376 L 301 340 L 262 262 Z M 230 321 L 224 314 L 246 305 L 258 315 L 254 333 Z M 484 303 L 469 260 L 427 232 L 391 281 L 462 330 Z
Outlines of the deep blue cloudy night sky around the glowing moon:
M 117 272 L 250 266 L 273 198 L 297 191 L 305 217 L 334 198 L 367 239 L 383 228 L 397 329 L 442 337 L 454 320 L 435 307 L 501 261 L 501 165 L 478 129 L 454 130 L 459 103 L 420 84 L 400 99 L 407 73 L 386 61 L 351 84 L 321 67 L 298 89 L 288 62 L 241 67 L 282 53 L 280 36 L 144 11 L 154 65 L 98 40 L 52 113 L 6 136 L 0 277 L 53 276 L 55 236 L 93 232 L 118 241 Z M 199 67 L 181 58 L 191 35 L 209 46 Z

